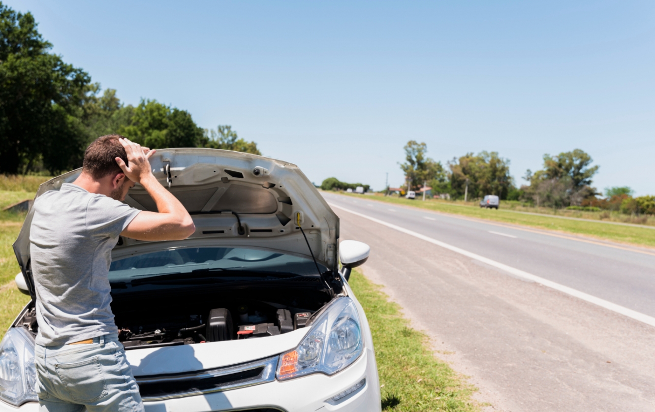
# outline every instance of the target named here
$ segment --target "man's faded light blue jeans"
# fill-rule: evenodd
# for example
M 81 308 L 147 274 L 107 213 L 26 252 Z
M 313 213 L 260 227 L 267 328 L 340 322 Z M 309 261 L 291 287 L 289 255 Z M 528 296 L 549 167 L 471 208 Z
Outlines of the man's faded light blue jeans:
M 35 348 L 39 412 L 141 412 L 143 402 L 118 335 Z

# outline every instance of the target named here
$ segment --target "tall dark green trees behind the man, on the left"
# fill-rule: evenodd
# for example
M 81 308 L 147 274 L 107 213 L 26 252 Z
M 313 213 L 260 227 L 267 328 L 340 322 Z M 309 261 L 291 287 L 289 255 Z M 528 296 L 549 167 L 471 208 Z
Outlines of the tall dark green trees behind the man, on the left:
M 125 105 L 116 90 L 102 91 L 86 71 L 51 49 L 31 13 L 0 2 L 0 173 L 78 168 L 88 143 L 116 133 L 153 149 L 210 147 L 261 155 L 255 142 L 238 138 L 231 126 L 200 128 L 189 112 L 157 100 Z

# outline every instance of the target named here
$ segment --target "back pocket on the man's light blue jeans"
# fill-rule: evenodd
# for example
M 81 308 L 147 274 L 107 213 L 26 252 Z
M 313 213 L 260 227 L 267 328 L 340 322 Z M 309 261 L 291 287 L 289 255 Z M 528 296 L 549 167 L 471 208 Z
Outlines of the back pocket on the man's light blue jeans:
M 105 375 L 98 356 L 72 364 L 55 364 L 54 367 L 73 400 L 94 402 L 107 394 Z

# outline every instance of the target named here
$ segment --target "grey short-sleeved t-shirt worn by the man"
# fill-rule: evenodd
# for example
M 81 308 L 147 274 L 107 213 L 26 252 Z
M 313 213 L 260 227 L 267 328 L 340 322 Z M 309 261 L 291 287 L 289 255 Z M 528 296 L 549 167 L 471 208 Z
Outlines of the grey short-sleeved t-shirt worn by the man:
M 117 333 L 109 306 L 111 250 L 141 211 L 71 183 L 41 195 L 33 209 L 36 343 L 58 346 Z

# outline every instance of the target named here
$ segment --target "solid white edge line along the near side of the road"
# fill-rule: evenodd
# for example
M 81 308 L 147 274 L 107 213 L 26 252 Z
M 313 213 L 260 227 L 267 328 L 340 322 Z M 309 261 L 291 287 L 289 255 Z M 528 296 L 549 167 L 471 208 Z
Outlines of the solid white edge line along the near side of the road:
M 552 280 L 544 279 L 540 276 L 536 276 L 534 274 L 521 271 L 520 269 L 516 269 L 514 267 L 505 265 L 504 263 L 496 262 L 495 260 L 488 259 L 487 257 L 483 257 L 480 255 L 476 255 L 476 253 L 468 252 L 468 250 L 460 249 L 457 248 L 457 246 L 452 246 L 450 244 L 441 242 L 440 240 L 436 240 L 433 238 L 430 238 L 428 236 L 425 236 L 424 234 L 417 233 L 414 231 L 410 231 L 409 229 L 405 229 L 404 227 L 400 227 L 397 225 L 394 225 L 392 223 L 388 223 L 385 221 L 382 221 L 380 219 L 375 219 L 375 217 L 367 216 L 358 212 L 354 212 L 353 210 L 343 208 L 341 206 L 337 206 L 336 204 L 329 203 L 329 205 L 333 208 L 341 209 L 345 212 L 352 213 L 354 215 L 364 217 L 364 219 L 369 219 L 370 221 L 374 221 L 375 223 L 380 223 L 381 225 L 384 225 L 390 229 L 394 229 L 396 231 L 409 234 L 410 236 L 414 236 L 415 238 L 419 238 L 421 240 L 425 240 L 426 242 L 430 242 L 432 244 L 436 244 L 437 246 L 441 246 L 441 248 L 445 248 L 447 250 L 451 250 L 452 252 L 459 253 L 460 255 L 464 255 L 466 257 L 470 257 L 471 259 L 475 259 L 477 261 L 486 263 L 487 265 L 491 265 L 493 267 L 497 267 L 498 269 L 501 269 L 502 271 L 509 272 L 513 274 L 514 276 L 518 276 L 519 278 L 531 280 L 533 282 L 536 282 L 538 284 L 542 284 L 548 288 L 554 289 L 561 291 L 563 293 L 567 293 L 567 295 L 571 295 L 573 297 L 577 297 L 578 299 L 582 299 L 583 301 L 588 301 L 589 303 L 593 303 L 594 305 L 598 305 L 599 307 L 603 307 L 608 310 L 612 310 L 612 312 L 616 312 L 619 314 L 622 314 L 624 316 L 627 316 L 628 318 L 633 318 L 634 320 L 639 320 L 639 322 L 643 322 L 645 324 L 648 324 L 650 326 L 655 326 L 655 318 L 652 316 L 648 316 L 647 314 L 643 314 L 641 312 L 637 312 L 636 310 L 632 309 L 627 309 L 626 307 L 622 307 L 621 305 L 616 305 L 616 303 L 612 303 L 610 301 L 606 301 L 605 299 L 601 299 L 599 297 L 595 297 L 592 295 L 589 295 L 587 293 L 584 293 L 579 290 L 575 290 L 573 288 L 569 288 L 569 286 L 564 286 L 561 285 L 557 282 L 553 282 Z

